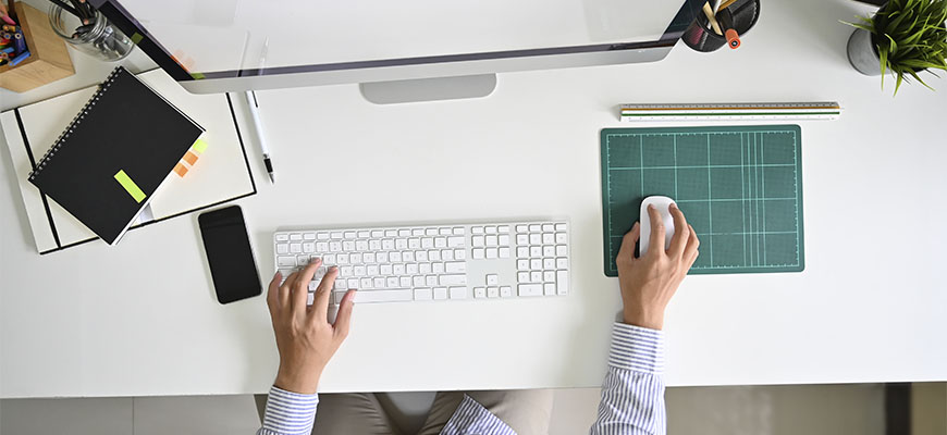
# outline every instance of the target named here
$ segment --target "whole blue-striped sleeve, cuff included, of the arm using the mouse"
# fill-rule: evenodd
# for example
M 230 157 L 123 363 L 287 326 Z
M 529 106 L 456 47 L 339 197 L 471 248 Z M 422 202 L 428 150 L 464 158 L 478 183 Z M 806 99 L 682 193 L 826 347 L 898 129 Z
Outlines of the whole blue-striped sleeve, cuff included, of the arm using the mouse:
M 615 323 L 591 435 L 664 435 L 664 333 Z

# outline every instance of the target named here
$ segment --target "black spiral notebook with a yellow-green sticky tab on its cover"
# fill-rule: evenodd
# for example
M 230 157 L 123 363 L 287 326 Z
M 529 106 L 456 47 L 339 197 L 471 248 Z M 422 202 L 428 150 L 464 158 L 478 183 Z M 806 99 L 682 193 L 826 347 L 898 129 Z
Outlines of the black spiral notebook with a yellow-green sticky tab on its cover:
M 119 66 L 36 163 L 29 182 L 114 245 L 202 133 Z

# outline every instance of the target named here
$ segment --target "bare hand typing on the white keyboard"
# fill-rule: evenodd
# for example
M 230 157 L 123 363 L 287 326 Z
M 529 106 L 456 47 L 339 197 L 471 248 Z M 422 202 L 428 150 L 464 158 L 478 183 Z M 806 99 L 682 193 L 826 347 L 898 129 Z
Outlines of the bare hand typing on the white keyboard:
M 280 372 L 273 385 L 287 391 L 315 394 L 322 369 L 348 335 L 355 290 L 348 290 L 342 298 L 335 324 L 327 320 L 329 295 L 339 276 L 335 266 L 319 283 L 312 306 L 306 306 L 309 282 L 320 265 L 321 260 L 312 260 L 306 269 L 290 274 L 282 286 L 282 276 L 276 272 L 267 294 L 280 350 Z

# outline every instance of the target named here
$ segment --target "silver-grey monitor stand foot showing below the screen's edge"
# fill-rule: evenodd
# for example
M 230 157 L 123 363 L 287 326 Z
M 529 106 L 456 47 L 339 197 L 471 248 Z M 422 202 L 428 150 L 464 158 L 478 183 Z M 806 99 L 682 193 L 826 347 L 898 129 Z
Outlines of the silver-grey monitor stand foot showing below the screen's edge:
M 358 87 L 361 96 L 376 104 L 482 98 L 496 88 L 496 74 L 372 82 Z

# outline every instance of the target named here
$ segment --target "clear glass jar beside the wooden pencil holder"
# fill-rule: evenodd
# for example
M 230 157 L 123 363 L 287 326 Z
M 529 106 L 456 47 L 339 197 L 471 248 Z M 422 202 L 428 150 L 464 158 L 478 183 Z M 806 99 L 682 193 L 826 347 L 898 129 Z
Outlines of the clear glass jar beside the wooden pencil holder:
M 53 32 L 76 50 L 103 61 L 124 59 L 135 48 L 135 44 L 122 30 L 112 26 L 101 12 L 93 12 L 95 15 L 91 23 L 83 26 L 78 17 L 57 4 L 50 4 L 49 23 Z M 85 28 L 77 32 L 81 26 Z

